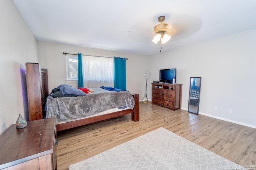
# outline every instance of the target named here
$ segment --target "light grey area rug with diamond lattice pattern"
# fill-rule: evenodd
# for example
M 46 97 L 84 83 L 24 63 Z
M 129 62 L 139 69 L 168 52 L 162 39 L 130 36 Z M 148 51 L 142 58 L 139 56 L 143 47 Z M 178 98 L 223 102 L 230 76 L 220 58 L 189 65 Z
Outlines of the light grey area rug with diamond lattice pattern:
M 224 170 L 241 169 L 163 127 L 71 164 L 69 170 Z

